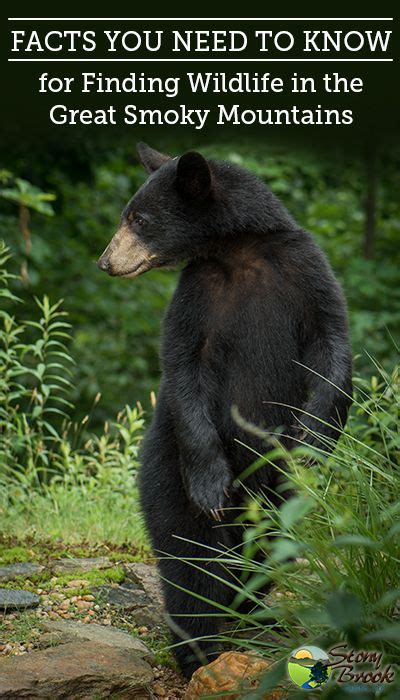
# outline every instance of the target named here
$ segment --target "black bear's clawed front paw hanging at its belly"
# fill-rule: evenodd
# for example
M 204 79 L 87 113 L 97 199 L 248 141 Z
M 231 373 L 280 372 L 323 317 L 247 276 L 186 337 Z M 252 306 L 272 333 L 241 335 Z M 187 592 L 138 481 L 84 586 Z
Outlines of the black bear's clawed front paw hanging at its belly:
M 217 458 L 209 469 L 189 476 L 189 499 L 199 510 L 221 521 L 232 481 L 233 475 L 226 460 Z

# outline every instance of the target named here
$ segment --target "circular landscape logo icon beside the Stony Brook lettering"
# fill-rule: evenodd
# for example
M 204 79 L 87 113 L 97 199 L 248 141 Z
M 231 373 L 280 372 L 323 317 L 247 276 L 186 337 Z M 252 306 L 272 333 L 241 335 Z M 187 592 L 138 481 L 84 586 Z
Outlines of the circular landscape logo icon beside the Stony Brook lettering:
M 298 647 L 288 660 L 289 678 L 298 688 L 304 690 L 320 688 L 331 676 L 331 663 L 323 649 L 310 645 Z

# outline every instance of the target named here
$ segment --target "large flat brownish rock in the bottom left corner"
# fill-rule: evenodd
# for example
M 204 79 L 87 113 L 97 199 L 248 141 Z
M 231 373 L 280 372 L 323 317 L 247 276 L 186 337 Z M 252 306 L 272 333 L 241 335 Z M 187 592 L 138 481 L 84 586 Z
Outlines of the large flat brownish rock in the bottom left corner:
M 1 698 L 146 697 L 153 672 L 134 649 L 70 642 L 1 662 Z

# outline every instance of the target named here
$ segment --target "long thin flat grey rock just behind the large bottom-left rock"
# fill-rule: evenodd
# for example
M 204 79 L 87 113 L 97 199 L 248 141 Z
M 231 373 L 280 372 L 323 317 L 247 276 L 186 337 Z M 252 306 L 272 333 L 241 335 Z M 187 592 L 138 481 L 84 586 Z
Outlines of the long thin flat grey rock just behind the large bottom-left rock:
M 106 644 L 114 649 L 131 649 L 148 663 L 154 663 L 154 655 L 148 647 L 136 637 L 116 627 L 104 627 L 95 622 L 90 625 L 69 620 L 46 620 L 42 624 L 47 635 L 40 637 L 39 643 L 65 644 L 70 641 L 90 641 Z M 43 640 L 43 637 L 45 639 Z M 43 644 L 42 644 L 43 646 Z

